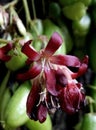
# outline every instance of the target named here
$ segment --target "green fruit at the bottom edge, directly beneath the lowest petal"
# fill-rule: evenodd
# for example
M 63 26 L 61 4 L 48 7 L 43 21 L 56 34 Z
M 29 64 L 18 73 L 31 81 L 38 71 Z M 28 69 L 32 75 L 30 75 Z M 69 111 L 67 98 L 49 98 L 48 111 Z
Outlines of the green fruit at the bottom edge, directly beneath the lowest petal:
M 51 119 L 50 119 L 49 115 L 47 116 L 46 121 L 43 123 L 29 119 L 25 123 L 25 126 L 29 130 L 52 130 L 52 123 L 51 123 Z

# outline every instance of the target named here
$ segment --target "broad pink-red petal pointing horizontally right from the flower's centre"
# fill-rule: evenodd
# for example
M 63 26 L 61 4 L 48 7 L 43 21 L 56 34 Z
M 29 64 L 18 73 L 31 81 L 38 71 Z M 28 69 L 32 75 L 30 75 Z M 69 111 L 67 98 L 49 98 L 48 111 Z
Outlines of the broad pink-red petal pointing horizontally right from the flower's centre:
M 65 65 L 69 67 L 80 67 L 80 60 L 71 55 L 55 55 L 50 58 L 53 64 Z

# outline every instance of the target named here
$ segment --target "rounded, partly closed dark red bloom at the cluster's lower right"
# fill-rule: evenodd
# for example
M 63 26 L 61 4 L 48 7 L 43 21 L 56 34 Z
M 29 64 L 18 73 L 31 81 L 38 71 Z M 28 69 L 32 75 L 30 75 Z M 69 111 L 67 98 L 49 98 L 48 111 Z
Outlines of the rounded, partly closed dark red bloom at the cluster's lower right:
M 68 114 L 78 112 L 85 100 L 85 93 L 80 83 L 68 83 L 59 93 L 61 108 Z

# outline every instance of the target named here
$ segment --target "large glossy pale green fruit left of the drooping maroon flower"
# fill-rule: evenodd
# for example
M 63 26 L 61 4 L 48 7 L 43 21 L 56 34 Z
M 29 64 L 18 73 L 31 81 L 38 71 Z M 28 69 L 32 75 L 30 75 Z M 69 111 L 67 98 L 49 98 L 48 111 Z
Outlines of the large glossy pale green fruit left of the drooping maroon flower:
M 26 101 L 30 92 L 30 84 L 23 83 L 15 91 L 5 111 L 5 125 L 8 127 L 19 127 L 29 118 L 26 114 Z

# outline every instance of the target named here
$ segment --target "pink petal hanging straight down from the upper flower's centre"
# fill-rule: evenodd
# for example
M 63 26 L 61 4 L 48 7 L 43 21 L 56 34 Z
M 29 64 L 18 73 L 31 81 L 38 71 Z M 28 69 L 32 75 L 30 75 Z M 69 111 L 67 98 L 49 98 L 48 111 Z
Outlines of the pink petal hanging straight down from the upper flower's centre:
M 44 72 L 45 72 L 47 90 L 52 95 L 56 96 L 58 92 L 56 91 L 55 72 L 49 68 L 45 68 Z

